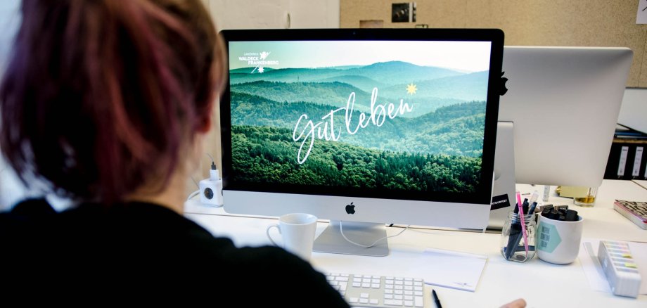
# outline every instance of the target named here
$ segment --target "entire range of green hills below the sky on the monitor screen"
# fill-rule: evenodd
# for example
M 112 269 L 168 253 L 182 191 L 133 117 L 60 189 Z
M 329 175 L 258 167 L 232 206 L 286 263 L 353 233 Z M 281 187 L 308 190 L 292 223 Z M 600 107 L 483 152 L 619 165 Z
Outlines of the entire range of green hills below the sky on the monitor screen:
M 252 70 L 230 71 L 236 180 L 396 191 L 478 186 L 487 72 L 399 61 Z M 416 84 L 416 94 L 407 93 L 408 84 Z M 414 109 L 371 118 L 373 88 L 376 104 L 402 100 Z M 353 92 L 354 111 L 347 113 Z

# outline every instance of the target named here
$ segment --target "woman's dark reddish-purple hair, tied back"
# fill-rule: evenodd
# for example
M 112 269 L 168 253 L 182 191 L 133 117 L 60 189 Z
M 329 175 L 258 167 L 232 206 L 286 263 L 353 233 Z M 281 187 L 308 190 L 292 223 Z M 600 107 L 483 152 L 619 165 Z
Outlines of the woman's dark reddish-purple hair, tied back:
M 23 0 L 22 18 L 0 147 L 23 181 L 108 203 L 168 183 L 225 74 L 200 0 Z

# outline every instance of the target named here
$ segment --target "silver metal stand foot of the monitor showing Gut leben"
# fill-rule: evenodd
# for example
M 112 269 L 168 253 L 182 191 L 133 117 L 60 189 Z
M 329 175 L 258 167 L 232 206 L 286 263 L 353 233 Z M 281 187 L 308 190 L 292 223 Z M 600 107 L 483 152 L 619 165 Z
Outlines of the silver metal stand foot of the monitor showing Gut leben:
M 340 232 L 340 224 L 344 234 Z M 364 248 L 350 243 L 346 238 L 361 245 L 371 245 L 378 241 L 371 248 Z M 367 255 L 373 257 L 384 257 L 389 255 L 389 243 L 386 238 L 386 227 L 384 224 L 370 222 L 340 222 L 331 220 L 323 233 L 314 240 L 313 251 L 330 252 L 343 255 Z

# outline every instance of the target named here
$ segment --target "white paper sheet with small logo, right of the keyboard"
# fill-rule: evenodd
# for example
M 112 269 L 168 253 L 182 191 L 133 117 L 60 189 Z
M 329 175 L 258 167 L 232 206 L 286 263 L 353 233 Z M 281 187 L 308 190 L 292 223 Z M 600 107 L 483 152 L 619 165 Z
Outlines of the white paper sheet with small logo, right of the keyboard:
M 427 248 L 421 255 L 422 267 L 417 267 L 416 276 L 429 285 L 474 292 L 481 278 L 487 256 L 466 252 Z

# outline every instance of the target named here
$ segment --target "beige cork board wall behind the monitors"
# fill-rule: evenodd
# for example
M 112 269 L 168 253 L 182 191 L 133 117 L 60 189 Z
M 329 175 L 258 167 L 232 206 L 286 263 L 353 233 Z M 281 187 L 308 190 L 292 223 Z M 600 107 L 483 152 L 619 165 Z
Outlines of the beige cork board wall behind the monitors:
M 383 27 L 494 27 L 506 45 L 623 46 L 634 51 L 628 87 L 647 88 L 647 25 L 636 25 L 647 0 L 417 0 L 416 22 L 392 23 L 402 0 L 340 0 L 340 27 L 383 20 Z M 647 6 L 647 5 L 646 5 Z

